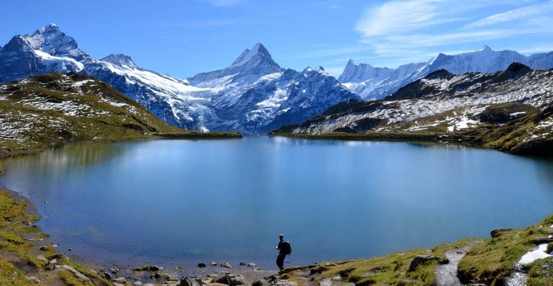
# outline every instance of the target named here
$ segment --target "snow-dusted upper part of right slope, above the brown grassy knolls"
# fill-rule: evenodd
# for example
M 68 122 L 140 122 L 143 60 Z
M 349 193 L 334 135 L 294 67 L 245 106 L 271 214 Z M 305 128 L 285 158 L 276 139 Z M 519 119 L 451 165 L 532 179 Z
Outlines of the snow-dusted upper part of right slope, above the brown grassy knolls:
M 341 102 L 300 125 L 283 127 L 282 131 L 307 134 L 401 132 L 426 131 L 442 125 L 448 131 L 457 131 L 467 128 L 467 123 L 477 124 L 474 116 L 483 108 L 498 103 L 524 103 L 542 111 L 551 108 L 553 71 L 531 70 L 519 63 L 493 73 L 454 75 L 437 70 L 383 101 Z M 521 114 L 513 112 L 512 116 Z

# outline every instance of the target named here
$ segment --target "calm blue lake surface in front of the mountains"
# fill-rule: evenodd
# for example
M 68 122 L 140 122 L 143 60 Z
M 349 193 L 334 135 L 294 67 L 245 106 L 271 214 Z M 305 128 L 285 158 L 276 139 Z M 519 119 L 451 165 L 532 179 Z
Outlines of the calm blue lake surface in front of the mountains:
M 430 247 L 553 213 L 553 162 L 408 143 L 249 137 L 70 144 L 0 161 L 60 250 L 97 262 L 290 264 Z M 48 201 L 48 203 L 44 203 Z

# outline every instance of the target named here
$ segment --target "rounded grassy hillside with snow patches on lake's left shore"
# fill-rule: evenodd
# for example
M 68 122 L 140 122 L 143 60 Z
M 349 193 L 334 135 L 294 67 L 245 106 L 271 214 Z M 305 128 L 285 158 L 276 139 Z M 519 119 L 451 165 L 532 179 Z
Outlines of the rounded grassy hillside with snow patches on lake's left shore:
M 105 82 L 74 73 L 0 85 L 0 126 L 0 153 L 4 154 L 71 141 L 240 136 L 170 126 Z

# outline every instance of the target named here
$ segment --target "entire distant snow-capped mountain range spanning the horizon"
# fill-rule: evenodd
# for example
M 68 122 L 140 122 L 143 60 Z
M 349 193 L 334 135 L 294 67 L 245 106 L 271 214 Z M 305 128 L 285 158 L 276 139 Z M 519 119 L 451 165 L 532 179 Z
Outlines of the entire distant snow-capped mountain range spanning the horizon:
M 93 59 L 78 48 L 74 38 L 48 24 L 32 35 L 16 35 L 0 49 L 0 82 L 73 71 L 107 82 L 177 127 L 263 134 L 304 122 L 342 101 L 383 98 L 436 70 L 493 72 L 514 61 L 533 69 L 550 69 L 553 53 L 524 56 L 486 46 L 471 53 L 440 54 L 427 63 L 397 69 L 350 60 L 337 80 L 322 67 L 284 69 L 262 44 L 255 44 L 224 69 L 177 79 L 142 69 L 127 55 Z

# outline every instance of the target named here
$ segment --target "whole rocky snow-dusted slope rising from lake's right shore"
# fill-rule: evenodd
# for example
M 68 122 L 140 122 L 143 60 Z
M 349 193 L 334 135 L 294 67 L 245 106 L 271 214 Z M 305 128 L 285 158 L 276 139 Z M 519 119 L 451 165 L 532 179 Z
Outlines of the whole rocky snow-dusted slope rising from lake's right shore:
M 551 156 L 552 79 L 553 71 L 531 70 L 518 63 L 492 74 L 438 70 L 385 100 L 342 102 L 274 133 L 462 141 Z

